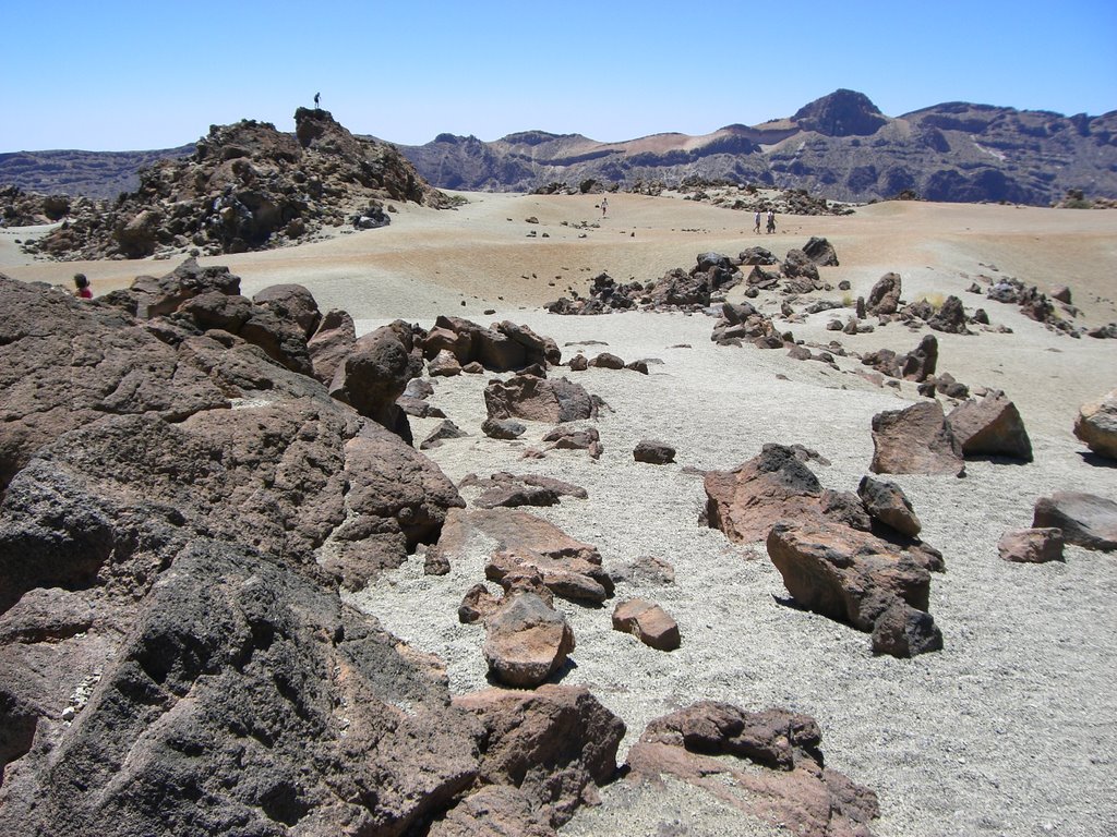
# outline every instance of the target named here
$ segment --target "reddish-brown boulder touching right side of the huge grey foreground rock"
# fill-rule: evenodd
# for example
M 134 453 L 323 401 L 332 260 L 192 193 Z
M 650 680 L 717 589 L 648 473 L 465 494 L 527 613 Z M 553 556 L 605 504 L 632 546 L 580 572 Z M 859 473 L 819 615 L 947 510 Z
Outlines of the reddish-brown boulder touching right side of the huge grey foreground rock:
M 593 804 L 598 788 L 617 773 L 624 723 L 584 687 L 544 684 L 533 692 L 489 689 L 455 698 L 454 708 L 483 728 L 475 792 L 515 788 L 528 800 L 535 822 L 551 828 L 567 822 L 579 806 Z M 504 804 L 488 806 L 507 809 Z M 485 821 L 490 820 L 491 815 L 486 815 Z

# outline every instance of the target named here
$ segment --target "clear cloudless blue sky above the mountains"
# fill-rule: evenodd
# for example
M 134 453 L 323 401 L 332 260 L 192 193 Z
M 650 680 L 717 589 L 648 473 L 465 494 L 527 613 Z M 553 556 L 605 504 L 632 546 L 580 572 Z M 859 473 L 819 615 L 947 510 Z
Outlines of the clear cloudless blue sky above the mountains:
M 604 142 L 790 116 L 844 87 L 1117 109 L 1117 0 L 0 0 L 0 152 L 168 148 L 299 105 L 401 144 Z

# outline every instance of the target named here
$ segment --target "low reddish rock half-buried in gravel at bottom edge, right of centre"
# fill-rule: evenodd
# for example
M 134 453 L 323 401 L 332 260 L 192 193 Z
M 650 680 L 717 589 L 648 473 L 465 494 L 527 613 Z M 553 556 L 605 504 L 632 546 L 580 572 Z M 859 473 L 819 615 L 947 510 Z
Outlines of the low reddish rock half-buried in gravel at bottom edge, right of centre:
M 629 750 L 627 781 L 684 781 L 795 835 L 868 837 L 876 795 L 824 768 L 820 743 L 809 715 L 704 701 L 648 724 Z

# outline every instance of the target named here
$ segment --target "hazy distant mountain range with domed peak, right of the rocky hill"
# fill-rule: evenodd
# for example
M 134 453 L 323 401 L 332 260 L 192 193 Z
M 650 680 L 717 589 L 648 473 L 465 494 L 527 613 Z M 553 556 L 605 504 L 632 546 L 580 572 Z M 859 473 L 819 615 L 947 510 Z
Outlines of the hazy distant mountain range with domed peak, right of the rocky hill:
M 443 189 L 698 179 L 806 189 L 839 201 L 904 192 L 933 201 L 1038 205 L 1068 190 L 1117 196 L 1117 112 L 1065 117 L 953 102 L 890 118 L 852 90 L 837 90 L 790 118 L 728 125 L 705 136 L 599 143 L 532 131 L 486 143 L 441 134 L 401 150 Z

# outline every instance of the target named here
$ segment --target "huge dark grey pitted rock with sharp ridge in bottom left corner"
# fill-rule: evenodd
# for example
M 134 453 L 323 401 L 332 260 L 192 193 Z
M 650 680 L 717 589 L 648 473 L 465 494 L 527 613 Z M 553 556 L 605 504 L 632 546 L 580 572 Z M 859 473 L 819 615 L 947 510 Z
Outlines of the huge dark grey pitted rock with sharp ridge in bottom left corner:
M 328 588 L 204 539 L 151 570 L 67 584 L 88 623 L 3 646 L 4 834 L 399 834 L 474 780 L 441 672 Z

